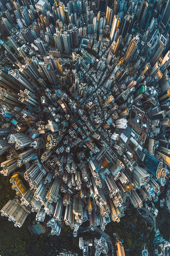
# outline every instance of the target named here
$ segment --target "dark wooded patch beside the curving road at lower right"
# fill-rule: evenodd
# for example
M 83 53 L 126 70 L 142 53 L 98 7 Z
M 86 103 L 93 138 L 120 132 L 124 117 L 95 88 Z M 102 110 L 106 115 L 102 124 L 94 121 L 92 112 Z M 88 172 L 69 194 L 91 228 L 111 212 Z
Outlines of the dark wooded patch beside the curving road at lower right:
M 106 233 L 111 238 L 113 238 L 113 233 L 116 233 L 120 239 L 124 240 L 126 256 L 141 255 L 144 245 L 148 244 L 148 240 L 150 240 L 149 251 L 150 256 L 153 256 L 155 233 L 152 227 L 150 228 L 149 223 L 145 223 L 137 209 L 131 204 L 119 223 L 110 222 L 106 226 Z M 113 238 L 113 245 L 115 243 L 116 240 Z

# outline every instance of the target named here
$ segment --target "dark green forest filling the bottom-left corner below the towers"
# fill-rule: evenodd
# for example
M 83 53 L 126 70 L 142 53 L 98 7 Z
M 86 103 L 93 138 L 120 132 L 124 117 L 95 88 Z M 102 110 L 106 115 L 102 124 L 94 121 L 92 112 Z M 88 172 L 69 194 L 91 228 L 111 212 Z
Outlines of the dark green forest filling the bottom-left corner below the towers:
M 13 222 L 9 222 L 7 218 L 0 216 L 0 254 L 3 256 L 56 256 L 62 249 L 71 252 L 77 252 L 78 237 L 73 238 L 71 229 L 63 225 L 60 236 L 48 236 L 47 234 L 40 236 L 32 236 L 27 227 L 33 225 L 35 214 L 27 217 L 24 225 L 20 228 L 14 227 Z

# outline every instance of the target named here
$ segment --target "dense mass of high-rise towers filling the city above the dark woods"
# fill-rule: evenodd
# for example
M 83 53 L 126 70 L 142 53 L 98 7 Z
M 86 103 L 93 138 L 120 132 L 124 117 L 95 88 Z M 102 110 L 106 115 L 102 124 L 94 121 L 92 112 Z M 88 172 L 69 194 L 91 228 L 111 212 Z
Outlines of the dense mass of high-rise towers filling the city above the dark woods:
M 18 227 L 49 215 L 52 235 L 64 221 L 77 236 L 156 202 L 170 170 L 170 0 L 0 8 L 0 173 L 17 195 L 1 215 Z

